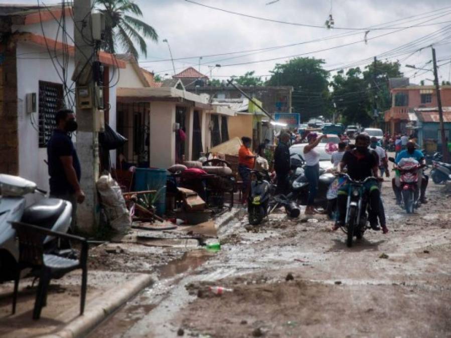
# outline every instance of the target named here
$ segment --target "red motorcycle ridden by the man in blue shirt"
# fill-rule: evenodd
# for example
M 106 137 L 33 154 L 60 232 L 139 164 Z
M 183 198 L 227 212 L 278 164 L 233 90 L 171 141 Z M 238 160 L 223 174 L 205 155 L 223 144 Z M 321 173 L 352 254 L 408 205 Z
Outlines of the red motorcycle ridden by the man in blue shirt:
M 394 169 L 399 170 L 402 203 L 408 214 L 413 213 L 417 206 L 418 170 L 423 167 L 413 158 L 403 158 L 394 167 Z

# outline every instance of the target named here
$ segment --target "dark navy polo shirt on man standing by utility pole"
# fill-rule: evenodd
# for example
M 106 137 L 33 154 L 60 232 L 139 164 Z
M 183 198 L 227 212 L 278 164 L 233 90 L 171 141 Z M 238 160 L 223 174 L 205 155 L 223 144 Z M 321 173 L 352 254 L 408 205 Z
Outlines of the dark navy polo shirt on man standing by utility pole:
M 80 181 L 81 168 L 74 144 L 66 132 L 55 129 L 52 137 L 47 143 L 47 157 L 49 163 L 49 184 L 50 194 L 73 194 L 75 192 L 72 185 L 66 178 L 61 156 L 72 156 L 73 167 Z

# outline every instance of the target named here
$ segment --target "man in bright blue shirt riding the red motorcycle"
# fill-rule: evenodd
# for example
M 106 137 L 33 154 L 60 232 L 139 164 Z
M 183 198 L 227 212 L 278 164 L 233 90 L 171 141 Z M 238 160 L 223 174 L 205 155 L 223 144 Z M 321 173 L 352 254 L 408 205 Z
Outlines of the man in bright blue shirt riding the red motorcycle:
M 414 158 L 418 161 L 419 164 L 425 165 L 426 161 L 424 159 L 424 154 L 421 150 L 415 149 L 416 144 L 413 141 L 408 141 L 406 145 L 407 149 L 403 150 L 398 153 L 395 159 L 395 164 L 398 164 L 398 162 L 403 158 Z M 399 189 L 401 186 L 400 182 L 400 176 L 399 174 L 396 174 L 396 176 L 393 178 L 392 181 L 392 187 L 393 191 L 396 196 L 396 204 L 401 204 L 401 190 Z M 417 184 L 417 193 L 420 191 L 420 202 L 421 203 L 427 203 L 426 200 L 426 187 L 428 183 L 428 177 L 423 176 L 423 170 L 418 169 L 418 184 Z M 418 196 L 416 193 L 416 196 Z

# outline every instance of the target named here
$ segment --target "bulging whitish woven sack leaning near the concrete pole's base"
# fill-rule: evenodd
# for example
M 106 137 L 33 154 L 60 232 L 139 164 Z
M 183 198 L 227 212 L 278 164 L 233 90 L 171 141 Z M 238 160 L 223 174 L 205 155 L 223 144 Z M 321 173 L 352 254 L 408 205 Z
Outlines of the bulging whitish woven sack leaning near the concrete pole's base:
M 100 176 L 96 186 L 109 224 L 114 230 L 126 233 L 131 227 L 131 216 L 119 185 L 108 174 Z

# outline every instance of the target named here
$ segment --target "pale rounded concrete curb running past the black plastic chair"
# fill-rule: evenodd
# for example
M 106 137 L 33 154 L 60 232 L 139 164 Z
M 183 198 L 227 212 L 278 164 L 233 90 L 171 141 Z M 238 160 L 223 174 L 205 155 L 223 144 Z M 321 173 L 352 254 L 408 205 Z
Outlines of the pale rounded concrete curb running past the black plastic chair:
M 86 304 L 82 316 L 76 317 L 58 332 L 41 335 L 42 338 L 76 338 L 85 336 L 92 328 L 120 305 L 151 284 L 152 275 L 141 274 L 119 287 L 108 290 L 100 299 Z

